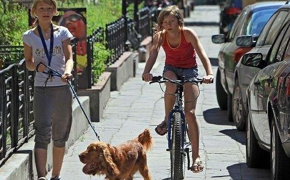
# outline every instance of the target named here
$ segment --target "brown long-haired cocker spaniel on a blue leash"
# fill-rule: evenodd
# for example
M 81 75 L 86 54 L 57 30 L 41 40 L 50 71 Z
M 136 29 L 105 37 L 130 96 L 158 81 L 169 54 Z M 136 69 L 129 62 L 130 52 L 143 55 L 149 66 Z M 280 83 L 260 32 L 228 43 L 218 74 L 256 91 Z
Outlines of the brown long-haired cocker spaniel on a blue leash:
M 104 142 L 91 143 L 87 150 L 79 155 L 85 174 L 106 175 L 109 180 L 130 180 L 137 171 L 145 180 L 151 180 L 147 167 L 146 151 L 153 144 L 149 129 L 145 129 L 133 140 L 119 146 Z

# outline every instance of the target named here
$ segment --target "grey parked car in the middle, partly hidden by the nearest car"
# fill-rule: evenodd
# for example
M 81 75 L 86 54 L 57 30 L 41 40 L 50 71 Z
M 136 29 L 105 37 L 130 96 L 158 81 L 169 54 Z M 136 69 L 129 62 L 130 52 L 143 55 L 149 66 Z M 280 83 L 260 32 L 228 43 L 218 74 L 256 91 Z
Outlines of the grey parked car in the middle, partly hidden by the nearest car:
M 236 40 L 237 46 L 253 47 L 249 52 L 261 52 L 265 57 L 272 46 L 275 37 L 290 19 L 290 4 L 281 6 L 263 28 L 257 41 L 254 41 L 252 35 L 239 36 Z M 246 88 L 249 82 L 253 79 L 259 68 L 245 66 L 238 62 L 235 69 L 235 85 L 233 89 L 232 99 L 232 114 L 233 120 L 238 130 L 245 130 L 246 127 Z

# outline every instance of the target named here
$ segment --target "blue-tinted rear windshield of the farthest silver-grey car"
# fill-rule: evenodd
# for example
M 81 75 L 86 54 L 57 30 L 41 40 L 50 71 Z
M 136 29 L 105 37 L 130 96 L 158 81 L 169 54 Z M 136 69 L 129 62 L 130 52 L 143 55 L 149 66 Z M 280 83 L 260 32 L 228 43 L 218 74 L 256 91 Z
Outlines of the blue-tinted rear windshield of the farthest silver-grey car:
M 246 35 L 258 36 L 264 28 L 266 22 L 274 14 L 275 9 L 266 9 L 254 12 L 247 25 Z

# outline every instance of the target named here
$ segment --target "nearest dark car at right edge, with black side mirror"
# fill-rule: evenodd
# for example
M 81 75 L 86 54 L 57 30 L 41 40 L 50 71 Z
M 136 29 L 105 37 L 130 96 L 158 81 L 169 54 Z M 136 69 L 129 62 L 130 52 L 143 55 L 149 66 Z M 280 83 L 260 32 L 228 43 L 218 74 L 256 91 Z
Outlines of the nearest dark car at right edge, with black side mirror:
M 279 180 L 290 179 L 289 40 L 287 21 L 265 60 L 259 52 L 242 57 L 244 65 L 261 69 L 247 88 L 247 165 L 258 168 L 270 164 L 272 179 Z

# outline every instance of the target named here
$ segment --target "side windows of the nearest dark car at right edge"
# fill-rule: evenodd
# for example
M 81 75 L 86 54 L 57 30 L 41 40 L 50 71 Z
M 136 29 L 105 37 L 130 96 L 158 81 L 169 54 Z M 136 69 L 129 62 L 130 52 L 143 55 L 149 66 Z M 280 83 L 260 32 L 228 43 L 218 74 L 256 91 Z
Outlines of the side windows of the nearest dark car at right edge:
M 285 52 L 286 44 L 287 44 L 287 42 L 289 40 L 289 36 L 290 36 L 290 33 L 285 34 L 288 26 L 289 26 L 289 24 L 287 26 L 285 26 L 282 29 L 281 33 L 278 35 L 278 38 L 273 45 L 272 51 L 270 52 L 270 57 L 269 57 L 269 62 L 268 62 L 269 64 L 281 61 L 281 59 L 282 59 L 281 57 L 282 57 L 283 53 Z M 276 55 L 276 52 L 277 52 L 277 55 Z

